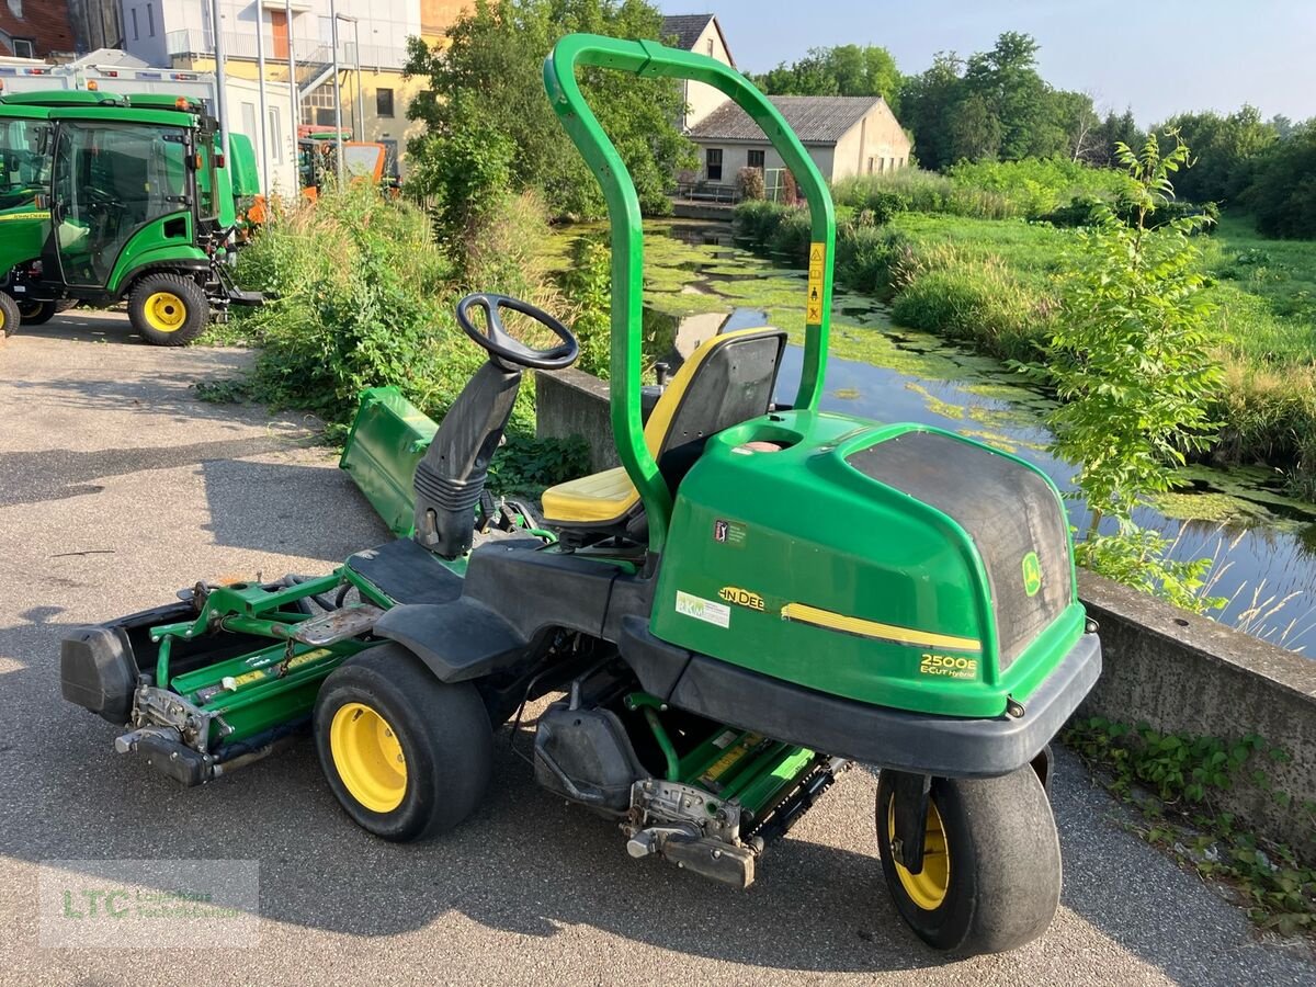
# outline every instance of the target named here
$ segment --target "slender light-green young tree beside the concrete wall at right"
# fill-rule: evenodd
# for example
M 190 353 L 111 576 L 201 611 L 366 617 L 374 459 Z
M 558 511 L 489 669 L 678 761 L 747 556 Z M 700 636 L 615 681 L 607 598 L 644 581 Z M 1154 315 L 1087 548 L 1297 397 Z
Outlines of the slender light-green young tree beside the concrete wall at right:
M 1149 224 L 1174 195 L 1170 176 L 1188 161 L 1187 145 L 1173 130 L 1169 136 L 1175 146 L 1167 154 L 1154 133 L 1137 153 L 1116 149 L 1133 179 L 1134 222 L 1100 204 L 1096 225 L 1078 234 L 1065 259 L 1062 312 L 1046 363 L 1032 371 L 1061 397 L 1049 416 L 1054 449 L 1078 463 L 1074 480 L 1092 515 L 1076 547 L 1080 563 L 1203 609 L 1213 601 L 1195 591 L 1209 559 L 1170 562 L 1166 541 L 1133 522 L 1140 503 L 1173 486 L 1173 467 L 1183 465 L 1186 451 L 1209 445 L 1215 424 L 1207 408 L 1221 378 L 1192 236 L 1207 221 Z M 1117 532 L 1101 533 L 1103 519 L 1113 519 Z

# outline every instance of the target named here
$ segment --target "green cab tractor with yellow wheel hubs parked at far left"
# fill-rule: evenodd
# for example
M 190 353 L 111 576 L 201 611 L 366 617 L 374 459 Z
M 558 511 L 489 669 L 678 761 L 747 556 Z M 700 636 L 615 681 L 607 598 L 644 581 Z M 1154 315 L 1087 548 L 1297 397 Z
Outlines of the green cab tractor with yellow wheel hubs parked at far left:
M 180 346 L 212 313 L 262 301 L 229 272 L 237 203 L 253 192 L 234 187 L 254 175 L 250 143 L 230 141 L 222 154 L 197 104 L 33 92 L 0 100 L 0 155 L 17 163 L 0 175 L 14 201 L 0 211 L 0 317 L 11 328 L 14 313 L 39 324 L 61 304 L 126 299 L 147 342 Z

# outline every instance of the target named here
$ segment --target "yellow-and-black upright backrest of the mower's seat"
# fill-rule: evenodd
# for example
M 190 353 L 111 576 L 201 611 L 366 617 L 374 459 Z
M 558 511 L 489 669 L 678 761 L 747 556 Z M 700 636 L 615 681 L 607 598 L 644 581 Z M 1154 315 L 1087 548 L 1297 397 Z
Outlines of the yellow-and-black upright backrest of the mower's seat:
M 645 445 L 672 492 L 709 436 L 767 412 L 784 350 L 780 329 L 738 329 L 704 341 L 682 363 L 645 425 Z

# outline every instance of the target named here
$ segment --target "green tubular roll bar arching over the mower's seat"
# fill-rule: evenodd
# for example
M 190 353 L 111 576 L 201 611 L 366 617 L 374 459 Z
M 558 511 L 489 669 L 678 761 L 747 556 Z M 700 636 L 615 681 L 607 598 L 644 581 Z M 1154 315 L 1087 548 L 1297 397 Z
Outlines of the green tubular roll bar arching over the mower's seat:
M 805 317 L 804 367 L 795 396 L 796 408 L 817 408 L 826 370 L 828 329 L 832 318 L 832 254 L 836 213 L 826 182 L 776 107 L 734 68 L 707 55 L 676 51 L 653 41 L 622 41 L 599 34 L 569 34 L 544 62 L 544 87 L 572 143 L 590 164 L 608 204 L 612 230 L 612 361 L 611 420 L 617 457 L 636 484 L 649 519 L 649 550 L 662 551 L 671 521 L 671 494 L 645 445 L 640 415 L 641 308 L 644 303 L 644 226 L 640 200 L 617 149 L 599 125 L 576 83 L 578 67 L 615 68 L 641 78 L 691 79 L 721 89 L 750 114 L 782 161 L 795 175 L 809 204 L 811 251 L 822 247 L 821 304 Z M 811 272 L 811 291 L 816 278 Z M 805 309 L 808 313 L 809 308 Z

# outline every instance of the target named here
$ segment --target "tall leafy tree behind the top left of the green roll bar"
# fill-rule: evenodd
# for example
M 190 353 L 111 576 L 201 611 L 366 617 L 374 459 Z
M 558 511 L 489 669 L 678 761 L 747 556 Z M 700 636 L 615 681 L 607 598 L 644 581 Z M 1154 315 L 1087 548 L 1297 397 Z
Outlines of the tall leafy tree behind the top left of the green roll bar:
M 470 213 L 468 193 L 490 196 L 500 183 L 538 191 L 558 215 L 603 213 L 592 175 L 544 96 L 544 57 L 571 32 L 659 38 L 662 16 L 642 0 L 476 0 L 449 29 L 446 50 L 411 38 L 407 71 L 429 82 L 408 109 L 425 126 L 408 142 L 415 191 L 436 196 L 454 221 Z M 675 126 L 679 83 L 596 68 L 584 70 L 580 82 L 641 207 L 670 209 L 671 175 L 696 161 Z M 494 158 L 487 166 L 486 154 Z M 476 174 L 466 176 L 465 168 Z

